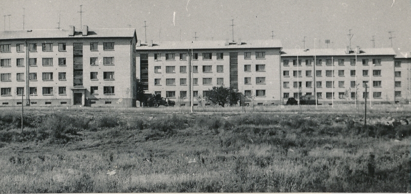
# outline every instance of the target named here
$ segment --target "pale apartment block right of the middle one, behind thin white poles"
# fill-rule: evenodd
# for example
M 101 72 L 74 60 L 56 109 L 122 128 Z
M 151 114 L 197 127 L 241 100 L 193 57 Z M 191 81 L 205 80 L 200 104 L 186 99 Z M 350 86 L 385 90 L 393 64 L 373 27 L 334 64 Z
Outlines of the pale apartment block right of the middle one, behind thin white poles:
M 399 100 L 396 85 L 403 85 L 397 82 L 402 72 L 395 67 L 395 56 L 392 48 L 284 49 L 282 100 L 316 95 L 320 104 L 363 103 L 365 98 L 394 103 Z

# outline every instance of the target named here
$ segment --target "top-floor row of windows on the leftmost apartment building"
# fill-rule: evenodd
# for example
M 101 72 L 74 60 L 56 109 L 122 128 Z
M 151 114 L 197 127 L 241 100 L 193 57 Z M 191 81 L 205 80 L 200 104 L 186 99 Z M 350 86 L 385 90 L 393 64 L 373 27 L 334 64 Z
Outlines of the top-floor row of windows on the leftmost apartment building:
M 98 42 L 90 42 L 90 51 L 98 51 Z M 66 43 L 58 43 L 58 50 L 60 52 L 66 51 Z M 110 51 L 114 50 L 114 42 L 103 42 L 103 50 Z M 32 43 L 29 44 L 29 51 L 36 52 L 37 51 L 37 44 Z M 53 44 L 52 43 L 42 43 L 42 51 L 44 52 L 52 52 L 53 51 Z M 0 52 L 2 53 L 9 53 L 11 52 L 11 44 L 7 45 L 0 45 Z M 24 44 L 16 44 L 16 52 L 24 52 Z

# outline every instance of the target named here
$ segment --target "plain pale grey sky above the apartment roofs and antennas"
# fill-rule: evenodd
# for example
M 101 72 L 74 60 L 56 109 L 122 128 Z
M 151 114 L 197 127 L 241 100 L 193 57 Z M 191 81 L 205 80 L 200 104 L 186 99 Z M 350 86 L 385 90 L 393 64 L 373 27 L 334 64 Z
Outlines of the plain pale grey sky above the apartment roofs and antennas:
M 24 30 L 56 29 L 60 17 L 61 29 L 135 28 L 142 42 L 274 35 L 283 48 L 337 49 L 351 34 L 352 48 L 392 40 L 395 50 L 411 52 L 411 0 L 0 0 L 0 30 L 23 30 L 23 15 Z

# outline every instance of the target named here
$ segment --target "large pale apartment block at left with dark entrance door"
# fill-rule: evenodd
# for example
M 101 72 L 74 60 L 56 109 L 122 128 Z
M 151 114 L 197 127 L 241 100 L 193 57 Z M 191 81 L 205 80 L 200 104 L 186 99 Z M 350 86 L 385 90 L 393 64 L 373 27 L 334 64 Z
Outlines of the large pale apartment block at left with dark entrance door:
M 135 106 L 136 42 L 135 29 L 0 32 L 0 104 Z

